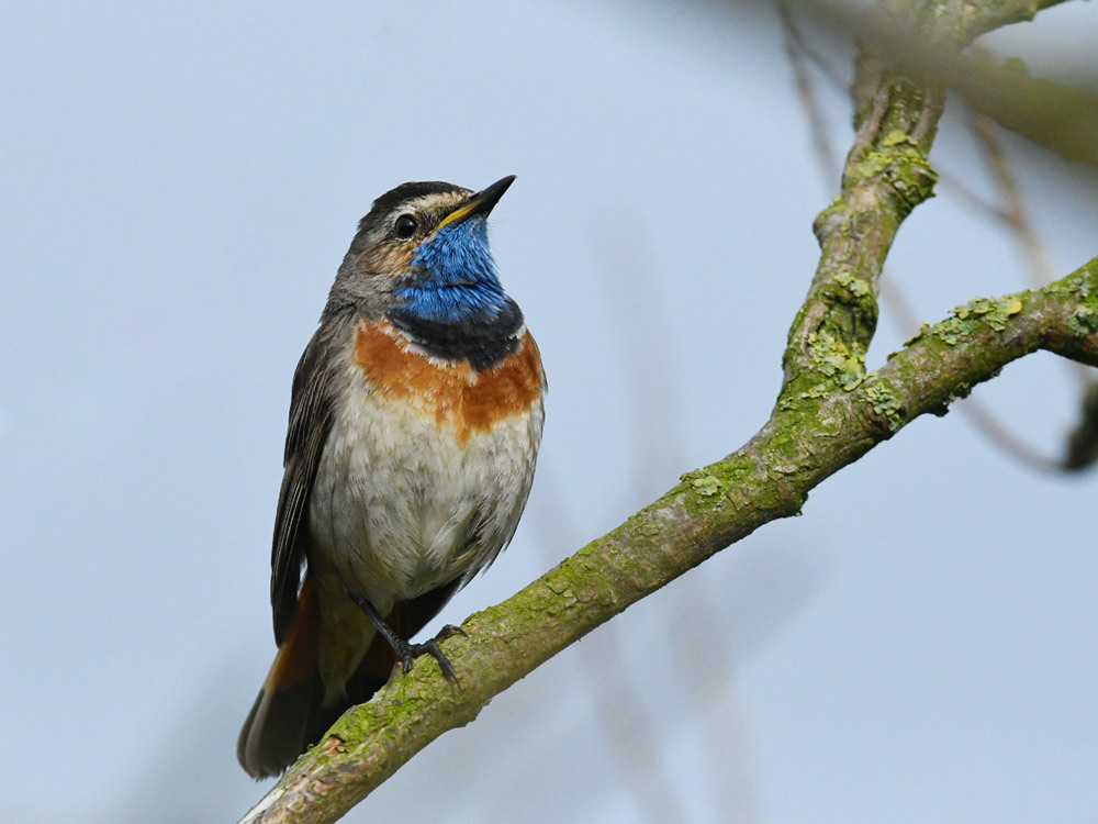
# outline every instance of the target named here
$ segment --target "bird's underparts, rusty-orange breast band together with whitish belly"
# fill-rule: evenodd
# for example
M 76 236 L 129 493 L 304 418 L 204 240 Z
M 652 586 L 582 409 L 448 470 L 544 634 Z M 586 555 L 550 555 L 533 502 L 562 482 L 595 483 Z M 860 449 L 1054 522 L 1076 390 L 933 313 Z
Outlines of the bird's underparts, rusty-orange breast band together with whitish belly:
M 483 569 L 514 535 L 541 439 L 544 374 L 524 333 L 491 369 L 359 324 L 313 488 L 311 565 L 384 613 Z M 334 575 L 329 575 L 334 574 Z M 345 591 L 346 591 L 345 589 Z

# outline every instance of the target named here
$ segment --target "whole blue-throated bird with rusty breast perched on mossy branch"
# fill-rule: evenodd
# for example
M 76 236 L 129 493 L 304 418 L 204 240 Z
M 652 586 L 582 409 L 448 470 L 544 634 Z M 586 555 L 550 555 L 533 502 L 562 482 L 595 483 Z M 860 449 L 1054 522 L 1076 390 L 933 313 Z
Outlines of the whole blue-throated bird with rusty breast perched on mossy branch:
M 373 201 L 293 376 L 271 550 L 278 653 L 237 743 L 282 772 L 439 641 L 411 638 L 511 543 L 545 421 L 538 346 L 488 218 L 514 182 Z

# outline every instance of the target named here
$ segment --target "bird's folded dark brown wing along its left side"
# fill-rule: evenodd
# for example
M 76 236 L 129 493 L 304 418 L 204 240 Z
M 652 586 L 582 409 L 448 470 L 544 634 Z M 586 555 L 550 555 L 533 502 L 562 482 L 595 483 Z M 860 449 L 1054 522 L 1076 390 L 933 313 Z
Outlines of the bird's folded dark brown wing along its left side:
M 329 329 L 317 329 L 293 374 L 282 489 L 271 547 L 271 610 L 279 645 L 290 631 L 298 606 L 301 568 L 309 555 L 309 497 L 332 428 L 329 338 Z

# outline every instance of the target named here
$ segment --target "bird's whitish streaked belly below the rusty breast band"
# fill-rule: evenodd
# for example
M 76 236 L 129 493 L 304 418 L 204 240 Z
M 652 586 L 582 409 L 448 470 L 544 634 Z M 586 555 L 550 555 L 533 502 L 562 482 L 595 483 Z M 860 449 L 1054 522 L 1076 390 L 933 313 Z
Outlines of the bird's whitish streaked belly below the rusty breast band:
M 511 541 L 534 480 L 542 404 L 460 441 L 453 425 L 380 396 L 360 371 L 347 380 L 313 485 L 310 564 L 323 589 L 366 595 L 386 614 L 468 581 Z

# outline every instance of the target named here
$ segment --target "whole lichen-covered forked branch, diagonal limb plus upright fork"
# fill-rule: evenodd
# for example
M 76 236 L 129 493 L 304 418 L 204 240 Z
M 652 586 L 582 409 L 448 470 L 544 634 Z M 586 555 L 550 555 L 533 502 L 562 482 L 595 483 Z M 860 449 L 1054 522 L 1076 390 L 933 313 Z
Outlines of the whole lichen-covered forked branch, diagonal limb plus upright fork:
M 923 30 L 956 45 L 1044 4 L 948 0 L 911 8 Z M 541 662 L 763 524 L 797 514 L 818 483 L 919 415 L 944 413 L 1011 360 L 1047 349 L 1098 366 L 1096 258 L 1042 289 L 959 307 L 866 374 L 885 257 L 903 220 L 932 191 L 927 154 L 941 105 L 932 85 L 920 86 L 879 56 L 862 59 L 858 134 L 841 193 L 816 221 L 820 264 L 789 331 L 783 387 L 762 430 L 505 602 L 469 616 L 468 637 L 445 642 L 459 686 L 421 658 L 410 675 L 348 711 L 242 824 L 336 821 Z

